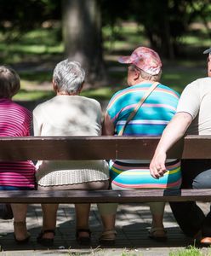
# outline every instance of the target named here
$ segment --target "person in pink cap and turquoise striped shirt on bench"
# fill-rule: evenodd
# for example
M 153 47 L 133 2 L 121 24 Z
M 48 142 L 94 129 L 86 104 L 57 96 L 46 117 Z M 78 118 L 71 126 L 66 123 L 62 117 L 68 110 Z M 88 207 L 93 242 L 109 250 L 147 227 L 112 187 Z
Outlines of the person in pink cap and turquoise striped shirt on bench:
M 160 84 L 162 61 L 153 49 L 139 47 L 132 55 L 119 58 L 128 64 L 128 87 L 112 96 L 106 109 L 105 135 L 160 136 L 176 112 L 179 95 Z M 110 160 L 112 189 L 178 189 L 180 160 L 168 160 L 168 173 L 161 179 L 151 177 L 150 160 Z M 164 203 L 150 203 L 152 225 L 149 236 L 167 239 L 163 227 Z

